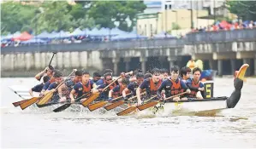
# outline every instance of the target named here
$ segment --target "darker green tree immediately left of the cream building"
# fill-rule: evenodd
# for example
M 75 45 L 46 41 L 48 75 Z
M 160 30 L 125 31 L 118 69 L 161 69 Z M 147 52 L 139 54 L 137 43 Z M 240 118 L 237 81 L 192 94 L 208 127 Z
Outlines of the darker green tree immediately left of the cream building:
M 142 13 L 146 5 L 136 1 L 94 1 L 88 10 L 90 17 L 101 27 L 118 28 L 130 32 L 136 25 L 136 14 Z

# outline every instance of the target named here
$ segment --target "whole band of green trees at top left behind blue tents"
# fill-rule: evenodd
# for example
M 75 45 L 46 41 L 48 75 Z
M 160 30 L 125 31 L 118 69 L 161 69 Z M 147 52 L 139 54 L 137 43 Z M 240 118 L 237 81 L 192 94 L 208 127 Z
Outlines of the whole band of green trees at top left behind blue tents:
M 37 4 L 6 2 L 1 4 L 1 32 L 29 31 L 39 34 L 47 31 L 73 32 L 75 28 L 95 26 L 132 31 L 136 14 L 146 9 L 138 1 L 45 1 Z

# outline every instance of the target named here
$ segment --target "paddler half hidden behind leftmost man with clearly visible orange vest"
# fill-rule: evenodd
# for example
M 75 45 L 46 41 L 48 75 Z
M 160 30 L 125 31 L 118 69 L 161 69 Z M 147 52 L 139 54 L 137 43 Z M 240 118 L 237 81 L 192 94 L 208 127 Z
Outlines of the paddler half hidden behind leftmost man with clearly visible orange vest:
M 69 94 L 71 92 L 71 90 L 74 88 L 74 85 L 76 83 L 80 83 L 81 82 L 81 77 L 83 75 L 82 71 L 76 71 L 74 72 L 74 77 L 69 77 L 67 78 L 63 85 L 61 85 L 58 88 L 58 93 L 60 96 L 60 101 L 63 102 L 65 100 L 67 100 L 69 98 Z

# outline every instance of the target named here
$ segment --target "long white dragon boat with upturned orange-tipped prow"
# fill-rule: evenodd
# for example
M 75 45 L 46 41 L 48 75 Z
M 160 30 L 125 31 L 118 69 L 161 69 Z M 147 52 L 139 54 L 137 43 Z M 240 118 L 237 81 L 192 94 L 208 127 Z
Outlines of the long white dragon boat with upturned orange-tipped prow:
M 157 106 L 148 108 L 143 111 L 136 110 L 134 112 L 129 113 L 128 115 L 200 115 L 200 116 L 214 116 L 217 112 L 222 111 L 223 109 L 227 108 L 234 108 L 235 105 L 238 103 L 238 101 L 241 98 L 241 89 L 243 86 L 243 79 L 245 76 L 245 73 L 247 71 L 247 64 L 244 64 L 241 66 L 241 69 L 237 73 L 237 76 L 234 79 L 234 87 L 235 90 L 233 93 L 229 96 L 223 96 L 223 97 L 212 97 L 213 89 L 208 89 L 205 85 L 205 92 L 208 95 L 205 95 L 205 99 L 203 100 L 180 100 L 178 102 L 176 101 L 167 101 L 164 104 L 159 102 Z M 15 94 L 19 95 L 19 93 L 26 95 L 25 90 L 22 90 L 22 87 L 15 88 L 13 86 L 9 87 L 12 89 Z M 28 92 L 27 92 L 28 94 Z M 22 95 L 21 95 L 22 96 Z M 210 98 L 207 96 L 210 96 Z M 62 103 L 55 104 L 54 106 L 46 106 L 41 108 L 43 109 L 49 109 L 50 111 L 57 108 L 58 106 L 63 105 Z M 128 108 L 128 104 L 124 104 L 122 106 L 118 106 L 115 109 L 112 110 L 112 112 L 122 112 L 124 109 Z M 68 110 L 69 109 L 69 110 Z M 80 104 L 74 104 L 68 108 L 68 111 L 88 111 L 85 107 L 81 106 Z M 47 110 L 48 111 L 48 110 Z M 95 112 L 106 112 L 104 108 L 100 108 L 96 110 Z

